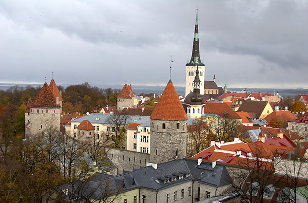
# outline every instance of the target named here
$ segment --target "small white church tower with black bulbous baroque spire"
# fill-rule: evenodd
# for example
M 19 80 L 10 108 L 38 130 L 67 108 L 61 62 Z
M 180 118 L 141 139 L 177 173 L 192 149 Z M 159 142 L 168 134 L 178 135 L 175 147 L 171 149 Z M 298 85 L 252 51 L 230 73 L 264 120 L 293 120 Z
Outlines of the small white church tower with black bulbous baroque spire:
M 194 80 L 194 91 L 190 94 L 190 117 L 191 118 L 201 118 L 203 113 L 202 101 L 203 98 L 200 95 L 200 79 L 199 79 L 199 70 L 197 67 L 196 76 Z

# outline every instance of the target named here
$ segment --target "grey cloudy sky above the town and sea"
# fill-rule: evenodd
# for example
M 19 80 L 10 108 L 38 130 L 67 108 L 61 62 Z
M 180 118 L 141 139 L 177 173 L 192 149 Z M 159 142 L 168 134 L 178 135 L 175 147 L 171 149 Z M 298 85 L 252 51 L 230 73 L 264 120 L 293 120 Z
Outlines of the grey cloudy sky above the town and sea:
M 0 83 L 185 85 L 196 8 L 206 80 L 308 88 L 308 1 L 2 0 Z

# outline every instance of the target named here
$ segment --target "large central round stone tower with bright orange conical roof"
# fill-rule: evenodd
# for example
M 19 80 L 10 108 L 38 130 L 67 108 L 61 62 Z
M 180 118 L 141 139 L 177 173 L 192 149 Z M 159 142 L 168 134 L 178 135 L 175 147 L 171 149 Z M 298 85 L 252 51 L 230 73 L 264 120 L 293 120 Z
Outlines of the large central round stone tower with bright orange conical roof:
M 151 119 L 150 161 L 162 163 L 186 156 L 187 115 L 169 80 Z

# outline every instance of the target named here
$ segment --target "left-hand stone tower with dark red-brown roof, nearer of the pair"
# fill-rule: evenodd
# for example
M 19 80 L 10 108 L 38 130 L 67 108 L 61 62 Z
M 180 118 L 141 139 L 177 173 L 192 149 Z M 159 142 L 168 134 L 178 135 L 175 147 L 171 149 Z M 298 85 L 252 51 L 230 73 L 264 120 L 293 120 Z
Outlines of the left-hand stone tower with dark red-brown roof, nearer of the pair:
M 49 127 L 60 131 L 60 114 L 59 98 L 54 97 L 51 89 L 45 82 L 30 105 L 29 135 L 41 134 Z

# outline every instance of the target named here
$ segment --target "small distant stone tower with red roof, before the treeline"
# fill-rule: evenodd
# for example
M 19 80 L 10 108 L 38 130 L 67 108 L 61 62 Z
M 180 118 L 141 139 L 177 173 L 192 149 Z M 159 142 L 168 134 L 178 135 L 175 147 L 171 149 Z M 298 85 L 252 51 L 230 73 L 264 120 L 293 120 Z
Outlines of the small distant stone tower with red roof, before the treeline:
M 131 85 L 125 83 L 117 97 L 117 109 L 120 112 L 123 108 L 133 108 L 133 93 Z

